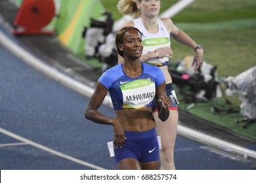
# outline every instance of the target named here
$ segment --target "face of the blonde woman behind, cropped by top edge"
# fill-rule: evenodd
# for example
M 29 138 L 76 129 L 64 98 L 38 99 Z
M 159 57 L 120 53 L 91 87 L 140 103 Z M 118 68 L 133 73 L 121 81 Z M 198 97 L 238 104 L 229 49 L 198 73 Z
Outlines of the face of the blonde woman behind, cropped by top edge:
M 137 7 L 140 9 L 142 16 L 158 16 L 160 12 L 160 0 L 142 0 L 137 1 Z

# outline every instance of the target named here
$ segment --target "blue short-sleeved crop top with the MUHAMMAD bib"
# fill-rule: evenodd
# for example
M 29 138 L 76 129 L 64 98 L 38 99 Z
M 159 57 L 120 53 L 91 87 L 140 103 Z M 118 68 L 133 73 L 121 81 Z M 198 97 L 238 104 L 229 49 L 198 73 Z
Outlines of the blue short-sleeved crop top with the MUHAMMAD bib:
M 114 110 L 151 107 L 156 86 L 165 82 L 163 71 L 154 65 L 142 63 L 142 74 L 130 78 L 123 71 L 123 63 L 108 69 L 98 81 L 103 84 L 112 99 Z

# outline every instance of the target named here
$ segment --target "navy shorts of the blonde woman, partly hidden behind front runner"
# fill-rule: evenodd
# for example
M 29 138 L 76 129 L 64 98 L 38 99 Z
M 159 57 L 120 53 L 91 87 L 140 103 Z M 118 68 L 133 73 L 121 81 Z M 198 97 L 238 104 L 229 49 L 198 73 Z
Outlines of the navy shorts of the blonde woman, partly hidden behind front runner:
M 169 105 L 169 110 L 178 110 L 178 100 L 175 96 L 173 96 L 173 91 L 175 93 L 175 90 L 173 89 L 173 84 L 169 83 L 165 86 L 166 95 L 171 99 L 171 104 Z M 158 105 L 156 103 L 156 97 L 152 101 L 152 111 L 157 112 L 158 111 Z

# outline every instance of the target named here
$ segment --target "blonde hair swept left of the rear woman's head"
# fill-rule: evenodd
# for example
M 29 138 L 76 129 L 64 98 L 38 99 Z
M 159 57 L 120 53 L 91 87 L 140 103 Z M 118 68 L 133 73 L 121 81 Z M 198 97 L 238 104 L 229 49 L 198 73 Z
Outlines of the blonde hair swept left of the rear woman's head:
M 121 14 L 128 14 L 134 18 L 139 18 L 141 16 L 140 10 L 137 8 L 136 2 L 142 0 L 119 0 L 117 3 L 117 9 Z

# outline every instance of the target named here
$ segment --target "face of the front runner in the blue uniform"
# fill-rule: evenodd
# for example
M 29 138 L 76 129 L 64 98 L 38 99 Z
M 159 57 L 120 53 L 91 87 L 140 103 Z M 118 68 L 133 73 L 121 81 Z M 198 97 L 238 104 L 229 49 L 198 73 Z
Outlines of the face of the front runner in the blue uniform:
M 140 33 L 136 29 L 130 29 L 123 35 L 123 43 L 120 46 L 124 56 L 133 59 L 140 58 L 143 50 Z

